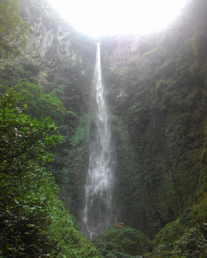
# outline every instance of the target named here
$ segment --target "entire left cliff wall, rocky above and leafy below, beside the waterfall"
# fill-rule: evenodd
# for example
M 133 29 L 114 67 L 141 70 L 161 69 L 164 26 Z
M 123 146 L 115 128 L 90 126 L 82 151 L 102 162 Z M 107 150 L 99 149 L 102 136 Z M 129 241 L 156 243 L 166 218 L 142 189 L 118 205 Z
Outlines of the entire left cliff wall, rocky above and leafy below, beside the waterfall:
M 23 57 L 2 63 L 0 91 L 5 92 L 5 85 L 13 87 L 25 97 L 28 115 L 50 116 L 55 122 L 64 140 L 53 148 L 50 170 L 65 206 L 78 216 L 88 162 L 85 112 L 90 107 L 95 42 L 64 22 L 47 1 L 21 0 L 20 7 L 22 19 L 30 22 L 28 44 Z

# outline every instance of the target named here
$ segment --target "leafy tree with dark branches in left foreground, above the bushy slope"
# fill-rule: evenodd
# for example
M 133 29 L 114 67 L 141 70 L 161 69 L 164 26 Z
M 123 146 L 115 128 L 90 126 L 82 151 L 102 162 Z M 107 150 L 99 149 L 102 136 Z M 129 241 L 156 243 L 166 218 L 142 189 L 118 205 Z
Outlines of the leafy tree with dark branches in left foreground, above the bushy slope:
M 12 184 L 20 184 L 27 176 L 39 180 L 46 171 L 44 165 L 52 160 L 47 150 L 61 141 L 50 117 L 31 119 L 24 113 L 26 107 L 13 89 L 0 100 L 0 178 L 10 177 Z

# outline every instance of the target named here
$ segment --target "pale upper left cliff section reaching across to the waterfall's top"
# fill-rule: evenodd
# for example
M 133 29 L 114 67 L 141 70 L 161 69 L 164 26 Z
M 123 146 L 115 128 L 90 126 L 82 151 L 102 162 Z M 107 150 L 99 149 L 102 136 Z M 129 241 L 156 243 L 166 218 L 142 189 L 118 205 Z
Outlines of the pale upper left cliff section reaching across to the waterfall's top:
M 86 35 L 81 35 L 47 1 L 20 1 L 20 15 L 30 24 L 25 58 L 41 66 L 38 80 L 47 83 L 48 76 L 58 77 L 67 68 L 80 68 L 81 74 L 91 75 L 95 55 L 95 43 Z M 88 70 L 87 70 L 88 68 Z M 68 78 L 68 74 L 61 77 Z M 81 75 L 80 75 L 81 76 Z

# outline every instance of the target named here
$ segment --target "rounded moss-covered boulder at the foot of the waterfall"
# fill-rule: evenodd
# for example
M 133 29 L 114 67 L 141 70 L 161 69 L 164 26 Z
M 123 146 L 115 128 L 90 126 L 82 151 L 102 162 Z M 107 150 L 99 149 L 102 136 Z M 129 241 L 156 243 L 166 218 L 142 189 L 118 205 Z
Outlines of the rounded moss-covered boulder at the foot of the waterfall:
M 94 245 L 105 257 L 131 257 L 151 250 L 151 241 L 143 233 L 121 225 L 110 226 Z

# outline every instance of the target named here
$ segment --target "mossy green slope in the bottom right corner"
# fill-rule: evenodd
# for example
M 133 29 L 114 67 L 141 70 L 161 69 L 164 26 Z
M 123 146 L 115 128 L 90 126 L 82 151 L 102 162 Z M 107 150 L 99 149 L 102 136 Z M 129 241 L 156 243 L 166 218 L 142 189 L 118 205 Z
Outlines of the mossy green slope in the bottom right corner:
M 206 214 L 207 196 L 156 235 L 150 257 L 206 257 Z

